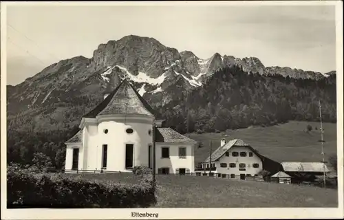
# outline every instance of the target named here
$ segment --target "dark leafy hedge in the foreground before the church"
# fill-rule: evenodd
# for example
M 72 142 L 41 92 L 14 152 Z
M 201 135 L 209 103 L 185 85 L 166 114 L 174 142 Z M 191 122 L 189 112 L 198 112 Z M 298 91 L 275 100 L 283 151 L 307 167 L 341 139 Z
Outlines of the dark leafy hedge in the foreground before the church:
M 9 166 L 7 184 L 8 208 L 146 208 L 156 201 L 147 179 L 126 186 Z

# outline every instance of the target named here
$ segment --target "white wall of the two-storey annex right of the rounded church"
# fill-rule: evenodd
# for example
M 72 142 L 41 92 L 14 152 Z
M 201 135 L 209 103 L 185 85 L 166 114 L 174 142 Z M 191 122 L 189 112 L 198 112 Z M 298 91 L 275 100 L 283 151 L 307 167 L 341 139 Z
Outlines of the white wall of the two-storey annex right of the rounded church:
M 177 168 L 188 168 L 190 173 L 195 173 L 193 144 L 156 143 L 155 147 L 156 173 L 158 173 L 158 168 L 169 168 L 169 173 L 175 173 Z M 162 147 L 169 147 L 169 158 L 162 158 Z M 179 157 L 179 147 L 186 147 L 185 158 Z

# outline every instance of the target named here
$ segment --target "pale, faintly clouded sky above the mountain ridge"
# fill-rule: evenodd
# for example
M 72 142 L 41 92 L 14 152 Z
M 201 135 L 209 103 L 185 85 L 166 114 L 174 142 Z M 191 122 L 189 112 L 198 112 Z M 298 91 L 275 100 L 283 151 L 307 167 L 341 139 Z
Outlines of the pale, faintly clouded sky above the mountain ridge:
M 255 56 L 266 66 L 336 69 L 335 8 L 273 5 L 8 5 L 7 84 L 134 34 L 200 58 Z

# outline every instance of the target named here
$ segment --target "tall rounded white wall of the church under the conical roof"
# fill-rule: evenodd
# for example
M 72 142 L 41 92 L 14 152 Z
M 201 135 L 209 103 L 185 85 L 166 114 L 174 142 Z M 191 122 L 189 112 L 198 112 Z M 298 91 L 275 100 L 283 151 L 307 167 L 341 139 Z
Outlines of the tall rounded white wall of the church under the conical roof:
M 85 122 L 85 159 L 84 170 L 100 170 L 103 159 L 103 144 L 107 144 L 107 170 L 129 171 L 125 168 L 126 144 L 133 144 L 133 166 L 149 166 L 148 148 L 152 144 L 153 119 L 146 116 L 135 118 L 114 117 L 99 120 L 97 123 Z M 126 129 L 133 129 L 129 134 Z M 105 133 L 105 129 L 108 133 Z

